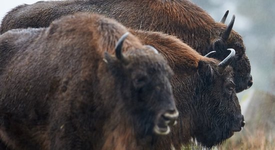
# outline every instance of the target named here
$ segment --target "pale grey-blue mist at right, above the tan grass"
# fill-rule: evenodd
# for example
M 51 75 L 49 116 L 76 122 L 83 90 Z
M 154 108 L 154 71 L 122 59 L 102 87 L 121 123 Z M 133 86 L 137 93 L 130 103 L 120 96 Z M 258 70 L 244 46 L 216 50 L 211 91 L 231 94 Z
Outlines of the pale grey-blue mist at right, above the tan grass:
M 274 94 L 275 56 L 275 1 L 274 0 L 192 0 L 206 10 L 216 21 L 229 10 L 226 22 L 236 15 L 233 29 L 244 40 L 246 54 L 251 64 L 253 85 L 249 90 L 258 89 Z M 239 95 L 240 95 L 239 94 Z

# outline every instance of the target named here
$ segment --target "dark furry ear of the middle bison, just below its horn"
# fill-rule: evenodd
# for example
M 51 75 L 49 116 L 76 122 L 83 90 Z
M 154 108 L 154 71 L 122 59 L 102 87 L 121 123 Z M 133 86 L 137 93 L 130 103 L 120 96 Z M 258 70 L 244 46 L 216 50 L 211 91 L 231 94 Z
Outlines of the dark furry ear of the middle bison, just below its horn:
M 198 61 L 198 74 L 204 77 L 206 80 L 211 81 L 214 71 L 212 67 L 205 61 L 199 60 Z

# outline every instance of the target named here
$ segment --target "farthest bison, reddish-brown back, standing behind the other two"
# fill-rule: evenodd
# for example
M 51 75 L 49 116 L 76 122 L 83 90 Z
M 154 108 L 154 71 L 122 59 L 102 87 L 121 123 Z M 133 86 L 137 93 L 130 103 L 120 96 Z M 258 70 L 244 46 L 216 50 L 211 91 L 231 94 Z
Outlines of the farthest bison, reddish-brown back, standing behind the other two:
M 0 33 L 12 28 L 46 27 L 62 15 L 80 11 L 104 14 L 134 29 L 176 35 L 203 55 L 216 50 L 214 57 L 219 60 L 229 54 L 227 48 L 233 48 L 236 55 L 230 65 L 234 71 L 235 91 L 240 92 L 252 85 L 243 40 L 232 30 L 235 17 L 226 26 L 223 22 L 215 22 L 207 12 L 188 0 L 39 1 L 10 10 L 1 22 Z

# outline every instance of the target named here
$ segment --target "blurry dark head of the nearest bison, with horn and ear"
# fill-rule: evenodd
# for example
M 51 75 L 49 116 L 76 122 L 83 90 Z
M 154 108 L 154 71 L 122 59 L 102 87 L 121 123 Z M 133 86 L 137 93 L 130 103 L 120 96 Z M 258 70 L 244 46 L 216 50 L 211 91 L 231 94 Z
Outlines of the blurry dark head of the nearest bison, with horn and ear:
M 122 53 L 127 35 L 128 32 L 118 40 L 115 56 L 107 52 L 104 56 L 109 68 L 120 78 L 117 85 L 121 85 L 118 88 L 124 96 L 122 103 L 139 133 L 168 134 L 169 125 L 175 124 L 178 116 L 170 85 L 173 72 L 152 46 Z

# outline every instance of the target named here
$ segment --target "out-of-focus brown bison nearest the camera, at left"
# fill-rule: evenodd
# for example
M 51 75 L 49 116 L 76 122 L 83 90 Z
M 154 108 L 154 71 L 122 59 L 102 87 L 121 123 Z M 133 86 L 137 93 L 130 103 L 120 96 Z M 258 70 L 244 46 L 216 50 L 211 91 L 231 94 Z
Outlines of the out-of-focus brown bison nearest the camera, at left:
M 82 13 L 1 34 L 2 141 L 11 149 L 151 149 L 168 134 L 178 115 L 173 72 L 125 32 Z

